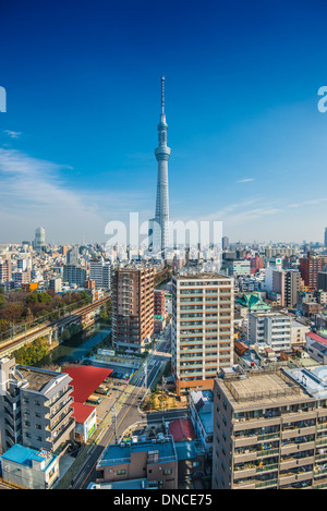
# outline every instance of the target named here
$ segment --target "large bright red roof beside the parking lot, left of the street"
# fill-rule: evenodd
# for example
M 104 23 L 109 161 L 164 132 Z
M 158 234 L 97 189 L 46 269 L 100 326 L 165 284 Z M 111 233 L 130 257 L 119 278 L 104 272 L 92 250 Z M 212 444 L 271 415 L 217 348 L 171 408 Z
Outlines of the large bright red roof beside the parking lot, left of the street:
M 74 387 L 72 397 L 77 403 L 85 403 L 89 396 L 111 375 L 112 369 L 102 367 L 76 365 L 68 367 L 63 373 L 70 375 L 73 379 L 71 385 Z

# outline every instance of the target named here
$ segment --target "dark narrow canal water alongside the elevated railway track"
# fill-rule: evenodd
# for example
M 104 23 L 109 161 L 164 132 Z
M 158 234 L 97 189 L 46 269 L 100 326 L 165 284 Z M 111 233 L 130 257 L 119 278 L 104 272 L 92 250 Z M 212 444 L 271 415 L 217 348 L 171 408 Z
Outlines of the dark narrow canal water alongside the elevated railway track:
M 47 367 L 81 361 L 93 346 L 99 344 L 99 342 L 101 342 L 110 332 L 111 327 L 108 324 L 97 321 L 85 330 L 73 336 L 69 341 L 62 342 L 58 346 L 53 348 L 53 350 L 35 364 L 35 366 Z

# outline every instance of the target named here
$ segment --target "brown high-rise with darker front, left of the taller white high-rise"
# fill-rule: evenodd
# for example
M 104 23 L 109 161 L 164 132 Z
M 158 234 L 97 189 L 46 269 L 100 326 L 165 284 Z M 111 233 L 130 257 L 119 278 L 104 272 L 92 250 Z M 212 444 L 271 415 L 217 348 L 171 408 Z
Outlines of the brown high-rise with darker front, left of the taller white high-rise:
M 117 268 L 112 277 L 112 342 L 142 351 L 154 333 L 154 268 Z

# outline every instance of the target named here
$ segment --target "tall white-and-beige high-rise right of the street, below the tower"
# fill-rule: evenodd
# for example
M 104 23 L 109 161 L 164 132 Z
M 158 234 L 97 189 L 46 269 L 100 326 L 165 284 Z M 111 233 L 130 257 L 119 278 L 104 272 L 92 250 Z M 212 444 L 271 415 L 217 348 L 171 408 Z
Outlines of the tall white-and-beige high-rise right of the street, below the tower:
M 172 372 L 178 394 L 214 387 L 233 363 L 233 280 L 217 273 L 172 278 Z

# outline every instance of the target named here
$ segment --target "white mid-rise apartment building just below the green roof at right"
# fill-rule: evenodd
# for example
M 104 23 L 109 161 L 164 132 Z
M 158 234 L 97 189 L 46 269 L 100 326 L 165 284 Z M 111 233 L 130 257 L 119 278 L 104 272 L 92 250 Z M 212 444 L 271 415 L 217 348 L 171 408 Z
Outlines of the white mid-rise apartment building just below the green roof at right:
M 269 312 L 249 314 L 249 341 L 258 346 L 268 345 L 276 353 L 291 348 L 292 319 L 287 314 Z

